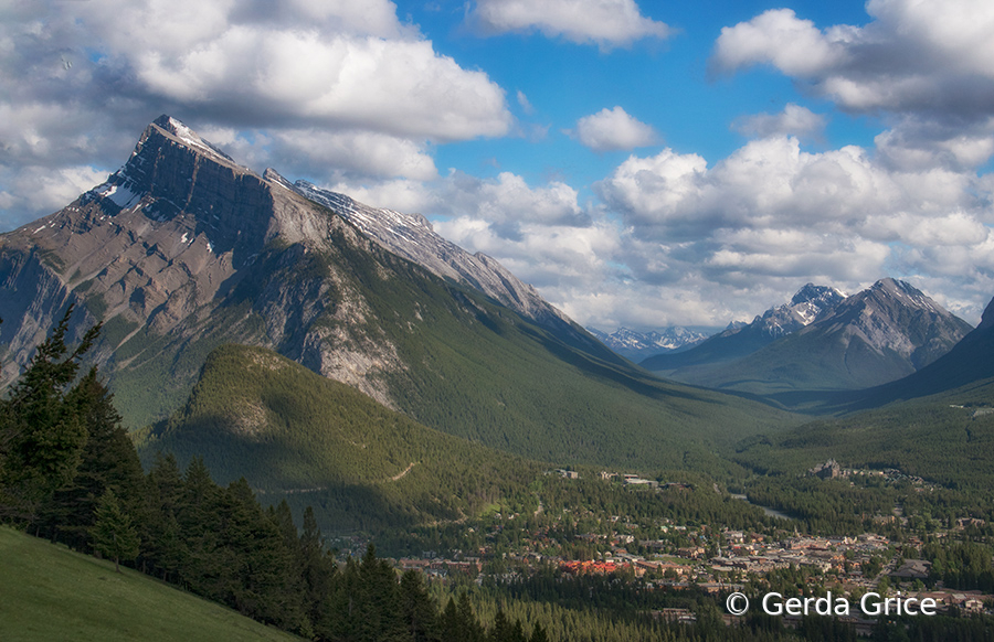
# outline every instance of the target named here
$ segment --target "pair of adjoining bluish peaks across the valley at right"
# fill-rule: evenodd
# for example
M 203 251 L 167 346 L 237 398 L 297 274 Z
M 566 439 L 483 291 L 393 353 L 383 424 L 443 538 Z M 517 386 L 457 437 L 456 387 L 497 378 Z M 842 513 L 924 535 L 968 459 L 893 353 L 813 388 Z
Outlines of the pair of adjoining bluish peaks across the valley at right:
M 970 330 L 969 323 L 895 279 L 850 297 L 807 285 L 790 303 L 745 327 L 642 365 L 687 383 L 757 395 L 858 389 L 913 373 Z

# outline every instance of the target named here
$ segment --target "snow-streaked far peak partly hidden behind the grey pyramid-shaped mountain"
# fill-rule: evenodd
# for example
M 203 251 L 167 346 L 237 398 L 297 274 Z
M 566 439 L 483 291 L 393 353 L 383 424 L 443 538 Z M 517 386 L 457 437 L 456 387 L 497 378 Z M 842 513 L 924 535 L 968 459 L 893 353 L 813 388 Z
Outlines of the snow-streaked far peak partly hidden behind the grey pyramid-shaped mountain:
M 687 374 L 680 368 L 698 366 L 710 370 L 760 350 L 781 336 L 796 332 L 814 321 L 832 313 L 845 296 L 827 286 L 807 283 L 789 303 L 770 308 L 751 323 L 730 323 L 723 331 L 685 352 L 659 354 L 642 361 L 652 372 L 666 373 L 681 381 L 695 381 L 699 375 Z

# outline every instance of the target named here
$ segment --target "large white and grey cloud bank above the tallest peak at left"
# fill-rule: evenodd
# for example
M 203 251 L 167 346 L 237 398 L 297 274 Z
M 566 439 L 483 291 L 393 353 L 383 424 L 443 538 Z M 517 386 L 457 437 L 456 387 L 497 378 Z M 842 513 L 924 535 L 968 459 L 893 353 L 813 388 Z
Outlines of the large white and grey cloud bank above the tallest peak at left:
M 435 143 L 514 126 L 499 85 L 387 0 L 25 0 L 0 21 L 0 86 L 2 227 L 47 213 L 27 168 L 113 171 L 163 111 L 253 169 L 326 183 L 432 180 Z

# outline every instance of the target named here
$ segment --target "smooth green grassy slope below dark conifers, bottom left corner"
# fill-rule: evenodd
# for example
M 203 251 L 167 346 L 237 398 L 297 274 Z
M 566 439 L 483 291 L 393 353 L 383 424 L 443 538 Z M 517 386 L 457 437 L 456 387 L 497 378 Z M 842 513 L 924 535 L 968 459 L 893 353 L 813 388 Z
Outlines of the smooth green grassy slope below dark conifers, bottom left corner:
M 114 563 L 0 527 L 0 640 L 299 640 Z

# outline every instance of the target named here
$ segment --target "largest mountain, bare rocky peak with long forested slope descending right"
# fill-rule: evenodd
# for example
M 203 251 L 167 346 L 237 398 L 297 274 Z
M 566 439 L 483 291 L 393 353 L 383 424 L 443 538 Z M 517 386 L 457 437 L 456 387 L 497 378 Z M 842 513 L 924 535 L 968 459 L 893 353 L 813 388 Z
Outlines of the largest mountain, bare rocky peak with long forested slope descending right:
M 796 420 L 648 376 L 548 304 L 522 317 L 500 291 L 442 278 L 329 207 L 349 203 L 305 191 L 160 117 L 106 183 L 0 235 L 6 382 L 75 303 L 75 336 L 104 323 L 89 355 L 133 427 L 183 406 L 229 343 L 273 350 L 432 428 L 564 463 L 722 466 L 711 453 L 729 426 Z M 403 227 L 414 217 L 350 206 L 377 220 L 370 229 L 414 238 Z

